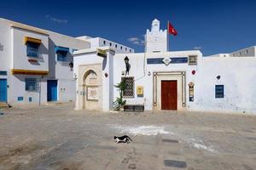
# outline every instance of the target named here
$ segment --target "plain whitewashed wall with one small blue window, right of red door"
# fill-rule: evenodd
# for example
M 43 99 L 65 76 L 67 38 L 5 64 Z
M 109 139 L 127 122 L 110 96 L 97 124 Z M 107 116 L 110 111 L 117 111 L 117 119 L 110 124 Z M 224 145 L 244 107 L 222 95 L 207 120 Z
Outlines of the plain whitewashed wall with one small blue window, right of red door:
M 198 67 L 190 110 L 256 113 L 255 57 L 203 58 Z M 218 84 L 224 85 L 224 99 L 215 99 Z

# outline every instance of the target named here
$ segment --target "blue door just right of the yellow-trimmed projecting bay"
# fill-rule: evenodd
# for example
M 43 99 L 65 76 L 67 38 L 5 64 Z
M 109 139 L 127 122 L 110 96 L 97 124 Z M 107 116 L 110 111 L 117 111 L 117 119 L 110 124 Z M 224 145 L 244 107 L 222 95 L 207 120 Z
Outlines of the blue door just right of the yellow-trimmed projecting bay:
M 57 101 L 57 80 L 47 81 L 47 101 Z

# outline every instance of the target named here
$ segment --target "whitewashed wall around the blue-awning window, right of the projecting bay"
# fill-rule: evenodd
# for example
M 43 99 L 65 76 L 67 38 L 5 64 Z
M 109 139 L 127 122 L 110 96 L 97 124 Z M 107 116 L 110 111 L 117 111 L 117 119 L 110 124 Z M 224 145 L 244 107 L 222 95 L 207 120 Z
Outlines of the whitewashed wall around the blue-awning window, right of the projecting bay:
M 57 60 L 55 46 L 69 48 L 67 61 Z M 80 40 L 74 37 L 67 37 L 55 32 L 49 32 L 49 79 L 58 80 L 58 101 L 67 102 L 75 100 L 75 79 L 73 70 L 70 69 L 69 63 L 73 62 L 73 49 L 90 48 L 90 42 Z

